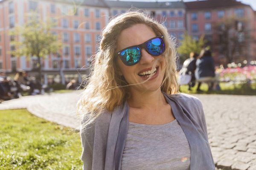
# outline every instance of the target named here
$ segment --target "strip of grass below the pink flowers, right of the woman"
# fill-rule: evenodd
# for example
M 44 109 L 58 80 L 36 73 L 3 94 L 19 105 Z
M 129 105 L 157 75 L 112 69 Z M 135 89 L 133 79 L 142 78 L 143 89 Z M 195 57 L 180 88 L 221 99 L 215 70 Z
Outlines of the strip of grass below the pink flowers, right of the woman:
M 251 88 L 248 88 L 245 84 L 231 84 L 230 82 L 221 82 L 220 91 L 208 91 L 208 85 L 202 83 L 201 90 L 204 92 L 197 92 L 197 84 L 192 88 L 191 91 L 188 90 L 188 85 L 180 86 L 180 92 L 186 94 L 236 94 L 236 95 L 256 95 L 256 83 L 251 85 Z

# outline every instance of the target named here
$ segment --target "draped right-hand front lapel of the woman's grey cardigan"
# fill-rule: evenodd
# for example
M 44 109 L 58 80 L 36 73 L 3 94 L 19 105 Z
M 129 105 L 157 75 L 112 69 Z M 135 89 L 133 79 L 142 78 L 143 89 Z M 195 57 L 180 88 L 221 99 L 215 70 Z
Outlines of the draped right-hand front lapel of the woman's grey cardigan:
M 192 114 L 199 113 L 194 113 L 193 109 L 181 106 L 178 97 L 168 96 L 167 94 L 165 94 L 165 97 L 189 142 L 190 170 L 212 170 L 213 160 L 207 136 L 204 135 L 202 128 L 192 116 Z

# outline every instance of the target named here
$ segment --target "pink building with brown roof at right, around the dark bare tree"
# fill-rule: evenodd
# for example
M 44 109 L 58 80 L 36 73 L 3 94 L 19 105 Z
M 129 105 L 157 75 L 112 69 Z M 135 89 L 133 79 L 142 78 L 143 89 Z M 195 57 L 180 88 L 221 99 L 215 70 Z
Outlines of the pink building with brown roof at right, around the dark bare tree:
M 200 0 L 186 2 L 186 26 L 187 31 L 196 40 L 204 34 L 207 45 L 211 46 L 214 52 L 216 64 L 229 62 L 225 59 L 223 46 L 221 46 L 221 37 L 219 31 L 219 22 L 224 18 L 234 17 L 234 31 L 241 35 L 241 43 L 244 45 L 243 54 L 235 53 L 233 61 L 242 62 L 244 59 L 256 59 L 256 51 L 253 48 L 254 42 L 245 39 L 245 37 L 255 36 L 255 12 L 249 5 L 245 5 L 236 0 Z M 237 30 L 237 29 L 241 30 Z M 234 34 L 231 34 L 234 36 Z M 230 39 L 230 41 L 232 41 Z M 237 47 L 238 50 L 239 47 Z M 246 50 L 245 50 L 246 49 Z

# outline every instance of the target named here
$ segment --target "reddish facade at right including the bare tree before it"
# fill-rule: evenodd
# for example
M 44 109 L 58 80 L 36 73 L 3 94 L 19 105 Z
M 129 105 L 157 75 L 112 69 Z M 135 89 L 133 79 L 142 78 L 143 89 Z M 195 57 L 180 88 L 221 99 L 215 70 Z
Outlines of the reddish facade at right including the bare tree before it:
M 255 12 L 236 0 L 186 2 L 186 26 L 198 40 L 205 36 L 216 64 L 256 59 Z M 256 40 L 256 39 L 255 39 Z

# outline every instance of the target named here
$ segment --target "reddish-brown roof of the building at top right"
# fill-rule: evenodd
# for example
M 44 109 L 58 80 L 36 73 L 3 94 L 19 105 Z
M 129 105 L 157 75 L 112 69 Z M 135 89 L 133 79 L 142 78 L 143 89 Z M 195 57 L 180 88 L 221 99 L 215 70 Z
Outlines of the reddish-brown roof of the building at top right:
M 185 3 L 187 10 L 224 8 L 234 6 L 250 6 L 236 0 L 197 0 Z

